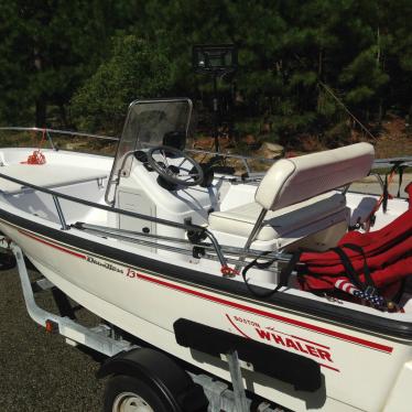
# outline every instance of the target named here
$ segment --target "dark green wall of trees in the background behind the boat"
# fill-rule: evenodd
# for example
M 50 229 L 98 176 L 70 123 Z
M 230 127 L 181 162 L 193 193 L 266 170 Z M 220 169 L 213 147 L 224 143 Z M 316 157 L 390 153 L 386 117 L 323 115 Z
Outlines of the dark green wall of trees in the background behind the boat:
M 269 122 L 272 139 L 345 140 L 348 113 L 329 90 L 362 121 L 412 112 L 410 0 L 10 0 L 0 15 L 2 122 L 40 122 L 53 105 L 62 122 L 110 132 L 137 97 L 210 100 L 191 65 L 199 43 L 238 45 L 237 119 Z

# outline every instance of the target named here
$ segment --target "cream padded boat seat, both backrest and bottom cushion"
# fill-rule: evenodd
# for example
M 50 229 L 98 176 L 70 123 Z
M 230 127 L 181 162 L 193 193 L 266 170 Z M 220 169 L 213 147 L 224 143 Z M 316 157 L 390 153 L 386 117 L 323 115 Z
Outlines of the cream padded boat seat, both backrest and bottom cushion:
M 373 158 L 371 144 L 357 143 L 282 159 L 260 182 L 253 203 L 212 213 L 209 229 L 248 238 L 247 250 L 254 240 L 277 240 L 283 247 L 345 223 L 345 195 L 335 189 L 365 177 Z

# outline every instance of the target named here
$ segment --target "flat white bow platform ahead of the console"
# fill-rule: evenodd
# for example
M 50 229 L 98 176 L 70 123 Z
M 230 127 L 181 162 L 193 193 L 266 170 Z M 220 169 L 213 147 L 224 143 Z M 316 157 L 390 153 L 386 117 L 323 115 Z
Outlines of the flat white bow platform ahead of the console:
M 98 169 L 47 163 L 42 165 L 9 164 L 1 166 L 0 173 L 46 188 L 106 178 L 108 175 L 107 172 Z M 0 178 L 0 191 L 3 193 L 13 194 L 22 188 L 23 186 L 18 183 Z

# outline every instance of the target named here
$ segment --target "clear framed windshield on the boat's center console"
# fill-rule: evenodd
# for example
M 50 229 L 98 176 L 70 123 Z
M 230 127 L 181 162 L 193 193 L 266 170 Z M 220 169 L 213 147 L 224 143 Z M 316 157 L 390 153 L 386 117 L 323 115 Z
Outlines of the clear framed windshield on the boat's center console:
M 167 137 L 178 137 L 184 149 L 192 116 L 189 99 L 135 100 L 129 106 L 116 153 L 110 180 L 128 176 L 132 163 L 127 153 L 149 147 L 167 144 Z M 170 144 L 169 144 L 170 145 Z M 121 169 L 121 171 L 120 171 Z

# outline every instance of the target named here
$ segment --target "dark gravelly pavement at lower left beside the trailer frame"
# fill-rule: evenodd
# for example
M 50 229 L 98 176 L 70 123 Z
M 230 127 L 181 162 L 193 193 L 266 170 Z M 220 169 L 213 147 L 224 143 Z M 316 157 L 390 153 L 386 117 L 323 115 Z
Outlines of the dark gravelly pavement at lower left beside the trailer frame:
M 37 302 L 53 303 L 48 292 Z M 15 270 L 0 272 L 0 412 L 101 411 L 99 364 L 35 324 Z

